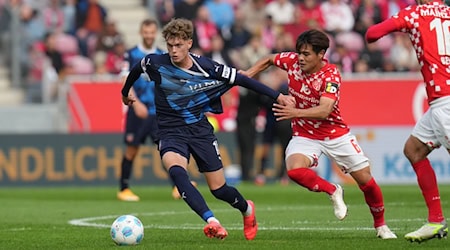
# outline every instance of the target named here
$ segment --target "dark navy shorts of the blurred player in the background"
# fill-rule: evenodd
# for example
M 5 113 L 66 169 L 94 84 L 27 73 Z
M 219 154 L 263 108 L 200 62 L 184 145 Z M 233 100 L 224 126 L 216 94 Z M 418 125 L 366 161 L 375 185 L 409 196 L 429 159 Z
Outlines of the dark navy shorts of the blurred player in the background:
M 158 122 L 155 115 L 149 115 L 146 119 L 142 119 L 136 116 L 133 109 L 129 109 L 126 119 L 125 144 L 139 146 L 145 143 L 147 137 L 157 144 Z

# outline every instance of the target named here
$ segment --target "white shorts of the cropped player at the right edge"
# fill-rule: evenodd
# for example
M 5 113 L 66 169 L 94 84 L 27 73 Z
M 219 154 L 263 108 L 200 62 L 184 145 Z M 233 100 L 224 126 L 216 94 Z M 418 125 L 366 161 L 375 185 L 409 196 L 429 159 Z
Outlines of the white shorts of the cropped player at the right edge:
M 416 123 L 411 135 L 431 149 L 444 146 L 450 149 L 450 96 L 442 97 Z

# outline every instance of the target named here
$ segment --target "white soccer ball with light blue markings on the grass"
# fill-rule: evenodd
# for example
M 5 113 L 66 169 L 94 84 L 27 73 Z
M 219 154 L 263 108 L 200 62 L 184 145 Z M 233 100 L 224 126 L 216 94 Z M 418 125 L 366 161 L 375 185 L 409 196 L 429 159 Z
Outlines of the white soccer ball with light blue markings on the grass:
M 117 245 L 137 245 L 144 238 L 144 225 L 136 216 L 122 215 L 113 222 L 110 233 Z

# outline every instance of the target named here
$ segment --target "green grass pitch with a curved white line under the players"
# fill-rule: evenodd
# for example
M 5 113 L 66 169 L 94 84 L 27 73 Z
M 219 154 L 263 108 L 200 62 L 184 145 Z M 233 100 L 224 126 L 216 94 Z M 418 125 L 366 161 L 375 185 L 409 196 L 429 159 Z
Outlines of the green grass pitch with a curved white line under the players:
M 410 243 L 403 236 L 425 222 L 426 206 L 415 185 L 381 186 L 386 220 L 396 240 L 376 238 L 361 191 L 344 186 L 349 215 L 337 221 L 328 196 L 288 186 L 237 186 L 255 201 L 259 232 L 246 241 L 242 218 L 228 204 L 199 187 L 229 236 L 203 235 L 203 221 L 169 186 L 134 186 L 141 201 L 116 200 L 116 187 L 0 189 L 0 249 L 449 249 L 447 239 Z M 440 186 L 444 214 L 450 214 L 450 185 Z M 116 246 L 109 227 L 118 215 L 134 214 L 145 226 L 138 246 Z

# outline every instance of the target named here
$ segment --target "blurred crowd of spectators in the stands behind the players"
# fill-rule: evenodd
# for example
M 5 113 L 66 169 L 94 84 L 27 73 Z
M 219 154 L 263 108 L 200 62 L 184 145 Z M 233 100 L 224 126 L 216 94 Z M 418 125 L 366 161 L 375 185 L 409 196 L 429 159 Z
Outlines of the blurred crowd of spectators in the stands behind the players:
M 267 53 L 294 50 L 297 35 L 316 28 L 329 34 L 332 46 L 327 56 L 344 74 L 418 70 L 404 35 L 391 35 L 373 45 L 364 42 L 370 25 L 413 0 L 151 1 L 142 0 L 142 8 L 156 14 L 161 26 L 174 17 L 193 21 L 193 52 L 240 69 Z M 11 31 L 14 13 L 19 27 Z M 41 101 L 42 79 L 117 74 L 123 53 L 133 45 L 126 44 L 117 22 L 120 19 L 110 18 L 101 0 L 0 0 L 4 64 L 10 63 L 12 32 L 18 32 L 21 82 L 29 102 Z

